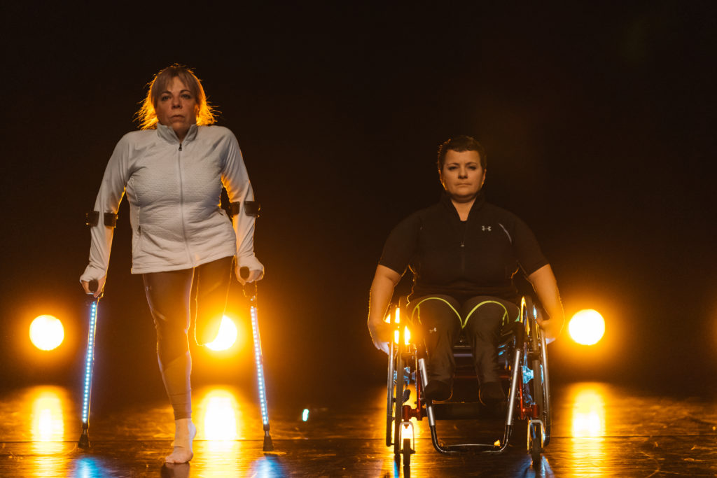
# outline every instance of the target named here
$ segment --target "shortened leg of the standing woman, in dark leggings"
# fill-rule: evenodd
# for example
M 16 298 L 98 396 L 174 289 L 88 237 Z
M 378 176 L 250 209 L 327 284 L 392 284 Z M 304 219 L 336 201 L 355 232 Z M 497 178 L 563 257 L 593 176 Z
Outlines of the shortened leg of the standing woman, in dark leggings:
M 194 269 L 194 340 L 199 345 L 206 345 L 217 338 L 227 307 L 233 265 L 234 257 L 224 257 Z

